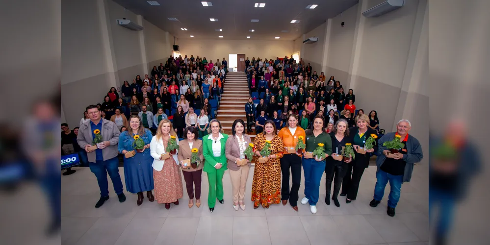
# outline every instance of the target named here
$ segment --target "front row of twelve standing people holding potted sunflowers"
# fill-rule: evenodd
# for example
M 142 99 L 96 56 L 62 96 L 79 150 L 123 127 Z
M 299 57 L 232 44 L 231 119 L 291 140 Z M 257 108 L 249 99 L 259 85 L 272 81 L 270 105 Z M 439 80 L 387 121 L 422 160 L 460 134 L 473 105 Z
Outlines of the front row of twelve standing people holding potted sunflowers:
M 87 113 L 90 120 L 80 126 L 77 143 L 87 151 L 90 170 L 96 175 L 101 189 L 101 197 L 96 208 L 101 207 L 109 198 L 106 172 L 111 177 L 119 201 L 126 200 L 118 170 L 117 155 L 121 153 L 124 154 L 126 189 L 129 193 L 137 194 L 137 205 L 143 203 L 145 192 L 149 201 L 156 200 L 159 204 L 164 204 L 167 209 L 172 203 L 179 205 L 179 199 L 183 196 L 181 180 L 183 175 L 185 189 L 189 196 L 189 208 L 194 205 L 200 207 L 201 179 L 204 171 L 207 173 L 209 184 L 207 204 L 210 212 L 213 212 L 216 200 L 224 204 L 223 175 L 226 170 L 230 170 L 233 208 L 245 210 L 244 196 L 252 160 L 246 157 L 245 150 L 252 141 L 245 133 L 246 124 L 243 120 L 237 119 L 233 122 L 230 136 L 224 133 L 221 123 L 213 119 L 209 123 L 208 134 L 202 141 L 198 139 L 197 129 L 192 126 L 185 128 L 183 140 L 179 141 L 172 123 L 168 120 L 162 120 L 158 124 L 156 134 L 153 136 L 143 127 L 137 116 L 131 116 L 129 129 L 120 133 L 115 123 L 101 118 L 101 111 L 96 105 L 88 106 Z M 265 157 L 264 161 L 257 161 L 255 164 L 251 197 L 254 208 L 260 205 L 269 208 L 271 204 L 280 202 L 286 205 L 289 201 L 292 208 L 297 211 L 302 166 L 305 174 L 305 197 L 301 199 L 301 203 L 309 203 L 311 213 L 316 213 L 319 184 L 323 172 L 326 173 L 327 179 L 325 198 L 327 205 L 332 199 L 335 206 L 340 206 L 337 195 L 342 182 L 340 195 L 347 195 L 347 203 L 356 199 L 362 173 L 369 162 L 368 155 L 358 153 L 358 149 L 364 147 L 366 137 L 374 131 L 367 127 L 366 115 L 359 115 L 356 118 L 357 128 L 349 128 L 345 120 L 338 120 L 331 133 L 323 131 L 324 123 L 322 117 L 316 116 L 313 127 L 305 131 L 299 126 L 298 117 L 290 114 L 287 117 L 286 127 L 277 133 L 276 125 L 272 120 L 264 122 L 264 131 L 259 133 L 253 145 L 250 145 L 253 146 L 253 154 L 257 158 Z M 413 163 L 422 158 L 418 141 L 408 135 L 410 128 L 410 122 L 406 120 L 398 123 L 396 134 L 407 143 L 405 150 L 400 151 L 402 153 L 396 153 L 401 156 L 388 154 L 382 146 L 379 149 L 375 146 L 366 150 L 383 152 L 383 157 L 378 158 L 380 160 L 377 161 L 380 170 L 377 173 L 378 182 L 371 206 L 379 203 L 387 182 L 393 182 L 390 184 L 388 215 L 391 213 L 394 215 L 401 183 L 410 180 Z M 380 139 L 380 144 L 390 140 L 390 137 L 395 137 L 395 134 L 387 134 Z M 92 149 L 94 139 L 99 139 L 95 150 Z M 297 151 L 296 145 L 299 141 L 305 144 L 303 152 Z M 354 146 L 355 155 L 344 160 L 335 160 L 332 156 L 341 154 L 341 148 L 348 144 Z M 264 153 L 262 149 L 266 146 L 268 155 L 261 155 L 261 152 Z M 325 157 L 308 157 L 307 153 L 319 146 L 323 147 Z M 289 187 L 290 172 L 291 187 Z M 334 182 L 334 191 L 333 195 L 330 195 L 332 182 Z M 196 199 L 195 203 L 194 199 Z

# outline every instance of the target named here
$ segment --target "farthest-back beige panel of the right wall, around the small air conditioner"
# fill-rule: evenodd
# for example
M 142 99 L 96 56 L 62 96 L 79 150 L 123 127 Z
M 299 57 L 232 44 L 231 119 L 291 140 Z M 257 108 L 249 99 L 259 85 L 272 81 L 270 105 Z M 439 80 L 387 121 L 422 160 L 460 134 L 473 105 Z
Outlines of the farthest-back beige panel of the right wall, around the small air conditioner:
M 323 47 L 325 45 L 325 26 L 324 23 L 314 28 L 310 32 L 306 33 L 305 39 L 301 39 L 301 42 L 306 40 L 306 38 L 317 37 L 318 42 L 303 44 L 304 54 L 301 57 L 305 60 L 305 65 L 311 64 L 313 71 L 320 74 L 322 71 L 322 59 L 323 59 Z

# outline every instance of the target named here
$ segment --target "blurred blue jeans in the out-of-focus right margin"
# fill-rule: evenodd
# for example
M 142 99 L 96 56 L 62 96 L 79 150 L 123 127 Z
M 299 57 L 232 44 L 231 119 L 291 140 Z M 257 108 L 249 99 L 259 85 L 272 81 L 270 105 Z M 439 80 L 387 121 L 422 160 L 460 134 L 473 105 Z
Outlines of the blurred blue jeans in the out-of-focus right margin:
M 451 228 L 456 200 L 456 195 L 450 191 L 429 188 L 429 222 L 434 217 L 433 209 L 438 206 L 438 217 L 435 220 L 438 237 L 446 237 Z

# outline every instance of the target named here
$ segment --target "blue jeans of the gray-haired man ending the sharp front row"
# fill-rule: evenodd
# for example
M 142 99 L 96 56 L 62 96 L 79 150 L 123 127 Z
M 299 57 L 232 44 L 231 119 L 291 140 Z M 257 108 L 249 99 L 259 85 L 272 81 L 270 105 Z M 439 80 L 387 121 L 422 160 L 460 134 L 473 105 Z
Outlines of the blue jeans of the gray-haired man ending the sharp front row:
M 376 172 L 376 186 L 374 187 L 374 199 L 381 201 L 385 195 L 385 187 L 389 181 L 388 207 L 396 208 L 400 200 L 400 191 L 402 189 L 403 175 L 392 175 L 378 169 Z

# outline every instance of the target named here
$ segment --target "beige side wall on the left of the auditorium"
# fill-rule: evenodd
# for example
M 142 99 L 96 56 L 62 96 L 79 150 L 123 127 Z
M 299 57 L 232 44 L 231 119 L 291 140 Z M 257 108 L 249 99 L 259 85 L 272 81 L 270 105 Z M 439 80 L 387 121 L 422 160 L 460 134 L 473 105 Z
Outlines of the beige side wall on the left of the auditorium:
M 150 74 L 171 54 L 173 36 L 112 0 L 70 1 L 61 13 L 61 104 L 70 126 L 79 123 L 87 105 L 102 103 L 110 87 Z M 145 29 L 117 25 L 122 18 Z

